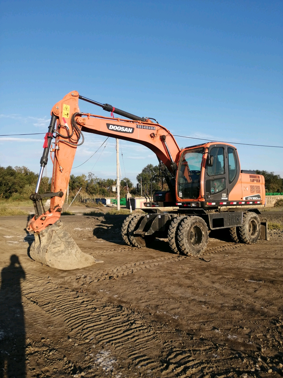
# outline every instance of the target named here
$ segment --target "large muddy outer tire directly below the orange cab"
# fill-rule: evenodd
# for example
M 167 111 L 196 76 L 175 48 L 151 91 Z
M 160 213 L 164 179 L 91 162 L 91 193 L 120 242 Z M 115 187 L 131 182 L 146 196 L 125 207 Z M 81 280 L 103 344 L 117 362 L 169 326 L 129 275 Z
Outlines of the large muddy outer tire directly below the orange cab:
M 208 243 L 208 227 L 197 216 L 185 217 L 178 228 L 178 246 L 187 256 L 200 256 Z

